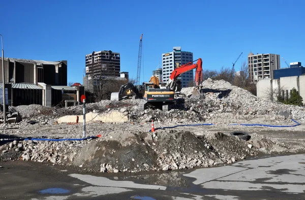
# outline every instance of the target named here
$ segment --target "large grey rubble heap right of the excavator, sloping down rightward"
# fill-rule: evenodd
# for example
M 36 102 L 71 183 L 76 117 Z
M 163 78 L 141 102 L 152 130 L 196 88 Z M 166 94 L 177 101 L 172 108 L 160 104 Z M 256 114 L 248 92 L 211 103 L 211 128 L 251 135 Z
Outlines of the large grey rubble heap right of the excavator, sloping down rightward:
M 304 108 L 266 101 L 224 80 L 207 79 L 201 88 L 203 98 L 186 99 L 186 107 L 204 118 L 268 116 L 269 121 L 291 118 L 305 120 Z M 181 92 L 190 97 L 193 89 L 194 87 L 182 88 Z

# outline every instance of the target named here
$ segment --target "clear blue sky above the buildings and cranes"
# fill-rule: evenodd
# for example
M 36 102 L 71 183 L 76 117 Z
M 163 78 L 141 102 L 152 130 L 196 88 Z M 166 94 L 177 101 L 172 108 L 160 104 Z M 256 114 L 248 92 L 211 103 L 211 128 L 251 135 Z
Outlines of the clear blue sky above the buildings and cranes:
M 250 50 L 275 53 L 305 65 L 305 1 L 11 1 L 3 0 L 0 34 L 5 57 L 68 60 L 68 82 L 82 83 L 85 55 L 120 53 L 121 71 L 136 78 L 143 34 L 141 80 L 161 54 L 181 46 L 203 69 L 235 64 Z M 281 67 L 286 67 L 281 60 Z M 144 72 L 144 76 L 143 76 Z

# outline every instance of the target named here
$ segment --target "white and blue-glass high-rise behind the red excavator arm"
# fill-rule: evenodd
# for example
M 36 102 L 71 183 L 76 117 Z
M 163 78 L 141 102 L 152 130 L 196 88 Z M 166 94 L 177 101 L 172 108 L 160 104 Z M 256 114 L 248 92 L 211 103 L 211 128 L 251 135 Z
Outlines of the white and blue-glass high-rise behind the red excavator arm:
M 193 61 L 193 53 L 181 51 L 181 47 L 173 47 L 173 51 L 162 54 L 162 75 L 163 82 L 167 82 L 172 71 L 182 64 Z M 181 87 L 193 86 L 194 70 L 190 70 L 178 77 Z

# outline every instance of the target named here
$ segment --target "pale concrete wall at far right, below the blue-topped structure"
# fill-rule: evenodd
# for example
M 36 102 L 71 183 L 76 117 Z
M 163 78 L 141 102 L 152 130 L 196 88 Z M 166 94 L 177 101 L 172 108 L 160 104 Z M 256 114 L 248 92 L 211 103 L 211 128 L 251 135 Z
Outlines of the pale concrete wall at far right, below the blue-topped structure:
M 305 75 L 259 80 L 256 87 L 257 96 L 268 100 L 269 97 L 266 94 L 271 93 L 272 90 L 281 89 L 281 95 L 283 95 L 284 90 L 284 97 L 286 98 L 290 96 L 290 90 L 295 88 L 303 98 L 303 103 L 305 103 Z M 276 99 L 276 94 L 273 98 Z

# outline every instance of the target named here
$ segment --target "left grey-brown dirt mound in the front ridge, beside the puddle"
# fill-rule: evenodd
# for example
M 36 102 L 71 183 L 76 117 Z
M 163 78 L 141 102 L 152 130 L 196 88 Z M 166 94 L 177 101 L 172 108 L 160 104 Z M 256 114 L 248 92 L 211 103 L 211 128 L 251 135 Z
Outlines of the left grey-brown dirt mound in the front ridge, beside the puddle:
M 74 165 L 101 172 L 156 170 L 157 155 L 137 135 L 125 135 L 125 140 L 95 140 L 83 147 L 73 160 Z

